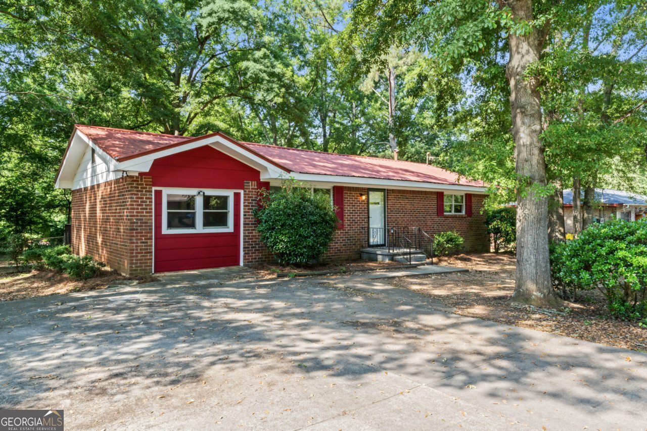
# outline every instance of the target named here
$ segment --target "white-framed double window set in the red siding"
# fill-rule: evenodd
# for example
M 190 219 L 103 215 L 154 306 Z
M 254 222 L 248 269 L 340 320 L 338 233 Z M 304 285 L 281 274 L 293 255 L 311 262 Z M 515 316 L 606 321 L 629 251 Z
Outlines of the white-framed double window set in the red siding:
M 162 190 L 162 233 L 234 232 L 234 192 Z

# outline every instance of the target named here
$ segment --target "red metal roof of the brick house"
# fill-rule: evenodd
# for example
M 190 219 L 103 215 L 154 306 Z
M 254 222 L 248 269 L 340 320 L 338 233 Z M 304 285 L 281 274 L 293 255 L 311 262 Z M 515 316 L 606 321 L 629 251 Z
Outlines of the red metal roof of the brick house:
M 143 153 L 192 142 L 202 137 L 183 137 L 147 133 L 110 127 L 76 125 L 94 144 L 116 160 L 133 159 Z M 213 135 L 213 134 L 212 134 Z M 205 135 L 206 136 L 206 135 Z M 223 135 L 225 136 L 225 135 Z M 226 136 L 225 136 L 226 137 Z M 232 140 L 233 141 L 233 140 Z M 236 141 L 234 141 L 236 142 Z M 309 149 L 286 148 L 254 142 L 236 142 L 253 153 L 293 172 L 314 175 L 340 175 L 400 181 L 433 182 L 435 184 L 463 184 L 483 187 L 483 181 L 470 181 L 457 173 L 424 163 L 405 160 L 379 159 Z

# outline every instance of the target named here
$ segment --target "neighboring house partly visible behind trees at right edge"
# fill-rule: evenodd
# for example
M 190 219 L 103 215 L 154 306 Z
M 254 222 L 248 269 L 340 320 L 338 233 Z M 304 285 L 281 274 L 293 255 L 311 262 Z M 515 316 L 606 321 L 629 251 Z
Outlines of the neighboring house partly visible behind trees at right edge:
M 584 204 L 584 192 L 582 202 Z M 615 217 L 623 220 L 639 220 L 647 210 L 647 196 L 622 190 L 595 189 L 593 221 L 602 223 Z M 567 234 L 573 234 L 573 190 L 564 190 L 564 225 Z

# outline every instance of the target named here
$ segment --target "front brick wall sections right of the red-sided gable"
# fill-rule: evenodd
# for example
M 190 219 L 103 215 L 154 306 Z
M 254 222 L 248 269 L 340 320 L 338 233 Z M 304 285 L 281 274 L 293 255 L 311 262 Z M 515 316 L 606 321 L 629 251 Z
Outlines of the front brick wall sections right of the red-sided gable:
M 360 258 L 360 249 L 367 247 L 367 201 L 360 199 L 366 188 L 344 187 L 344 229 L 334 233 L 324 261 Z M 273 261 L 272 254 L 258 239 L 256 219 L 252 208 L 257 202 L 256 182 L 245 183 L 243 261 L 246 265 Z M 481 215 L 485 195 L 472 195 L 472 217 L 461 215 L 437 216 L 436 193 L 417 190 L 386 192 L 387 225 L 389 227 L 421 227 L 432 235 L 446 230 L 456 230 L 465 239 L 467 251 L 487 252 L 489 239 L 485 230 L 485 216 Z

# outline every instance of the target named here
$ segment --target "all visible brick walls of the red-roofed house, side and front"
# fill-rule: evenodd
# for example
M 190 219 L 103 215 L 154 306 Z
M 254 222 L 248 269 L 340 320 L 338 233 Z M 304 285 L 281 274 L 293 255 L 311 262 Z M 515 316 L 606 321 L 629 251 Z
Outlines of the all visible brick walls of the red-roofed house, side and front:
M 123 177 L 72 191 L 72 250 L 104 261 L 124 274 L 149 274 L 153 265 L 151 177 Z M 243 195 L 243 263 L 272 262 L 259 241 L 252 210 L 258 205 L 258 182 L 245 181 Z M 367 246 L 366 188 L 344 187 L 344 229 L 334 233 L 324 261 L 358 259 Z M 472 217 L 437 216 L 436 193 L 387 190 L 387 224 L 421 227 L 428 234 L 457 230 L 465 249 L 488 251 L 481 215 L 483 195 L 472 195 Z

